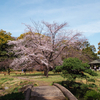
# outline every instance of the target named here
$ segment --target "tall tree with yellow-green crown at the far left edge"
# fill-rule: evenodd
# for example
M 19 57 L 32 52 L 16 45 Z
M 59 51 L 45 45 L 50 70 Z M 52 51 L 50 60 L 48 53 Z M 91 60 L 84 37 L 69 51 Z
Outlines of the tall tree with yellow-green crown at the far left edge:
M 7 70 L 12 60 L 8 56 L 8 40 L 14 40 L 10 32 L 0 30 L 0 70 Z

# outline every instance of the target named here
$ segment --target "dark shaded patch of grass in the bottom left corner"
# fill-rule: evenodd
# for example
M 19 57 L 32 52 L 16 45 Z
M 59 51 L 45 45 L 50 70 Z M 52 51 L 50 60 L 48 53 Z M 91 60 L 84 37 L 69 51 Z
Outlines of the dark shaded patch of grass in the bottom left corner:
M 11 93 L 11 94 L 6 94 L 4 96 L 0 97 L 0 100 L 24 100 L 24 94 L 22 92 L 18 93 Z

